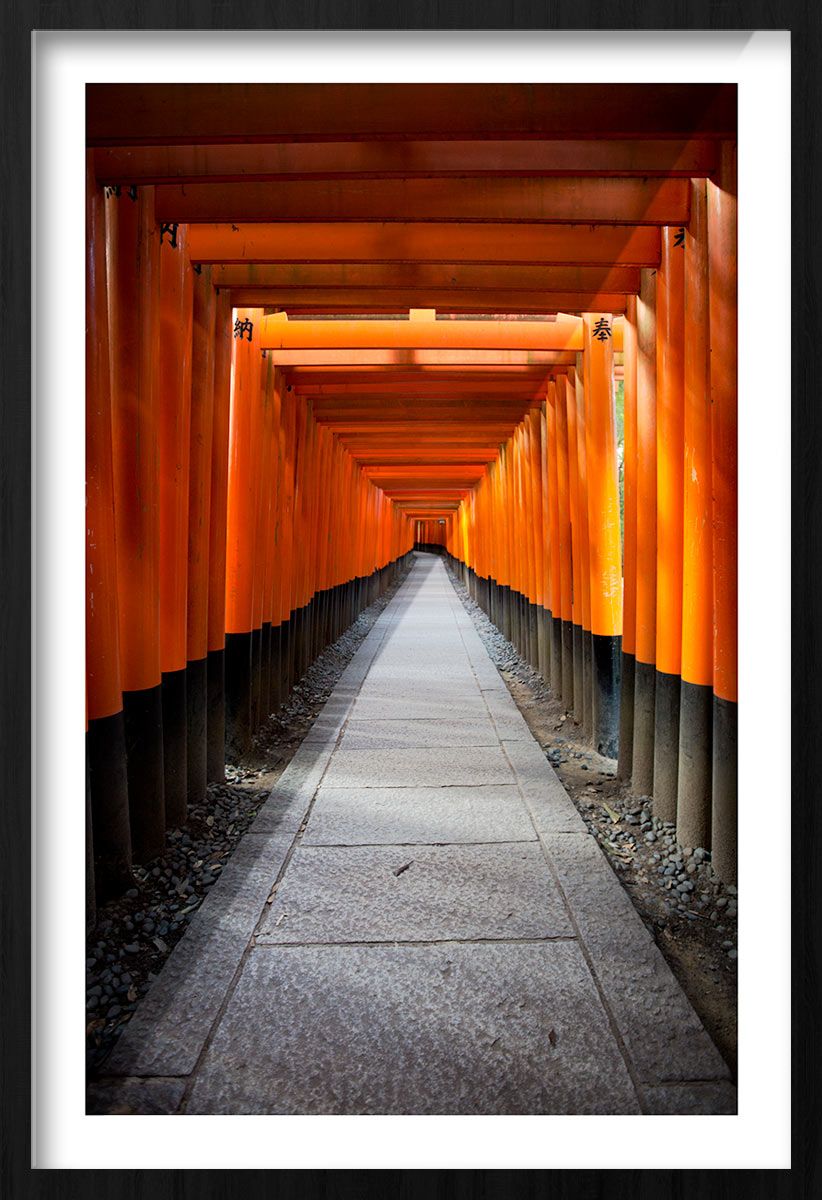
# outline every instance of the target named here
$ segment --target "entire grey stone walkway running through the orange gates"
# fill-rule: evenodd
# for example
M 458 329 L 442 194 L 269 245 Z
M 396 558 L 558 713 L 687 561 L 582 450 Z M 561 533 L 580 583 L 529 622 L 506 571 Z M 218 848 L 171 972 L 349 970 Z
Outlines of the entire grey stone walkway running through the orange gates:
M 95 1111 L 736 1108 L 724 1061 L 430 556 L 104 1070 Z

